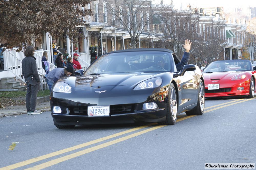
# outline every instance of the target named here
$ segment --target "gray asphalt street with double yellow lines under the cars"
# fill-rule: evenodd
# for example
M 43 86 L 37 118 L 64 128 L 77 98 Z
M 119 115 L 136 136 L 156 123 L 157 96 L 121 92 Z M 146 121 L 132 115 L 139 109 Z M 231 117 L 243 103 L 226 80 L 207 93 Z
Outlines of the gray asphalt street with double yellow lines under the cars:
M 206 99 L 200 116 L 57 129 L 49 112 L 0 118 L 2 169 L 204 169 L 255 163 L 256 98 Z M 8 150 L 17 142 L 14 150 Z

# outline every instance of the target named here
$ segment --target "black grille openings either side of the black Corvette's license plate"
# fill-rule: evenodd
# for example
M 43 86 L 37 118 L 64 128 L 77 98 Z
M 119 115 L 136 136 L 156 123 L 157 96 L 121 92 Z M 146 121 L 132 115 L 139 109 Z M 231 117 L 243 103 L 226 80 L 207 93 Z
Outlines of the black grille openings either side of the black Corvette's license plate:
M 110 105 L 110 115 L 113 114 L 124 114 L 134 112 L 134 104 L 120 104 L 120 105 Z M 87 116 L 87 106 L 79 106 L 69 108 L 70 115 L 83 115 Z

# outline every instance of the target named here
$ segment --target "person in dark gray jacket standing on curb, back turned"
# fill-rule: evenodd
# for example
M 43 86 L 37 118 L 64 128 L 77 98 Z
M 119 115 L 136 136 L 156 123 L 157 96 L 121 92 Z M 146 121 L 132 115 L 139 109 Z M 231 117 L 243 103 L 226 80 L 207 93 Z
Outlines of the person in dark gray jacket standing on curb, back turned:
M 36 96 L 39 90 L 40 77 L 37 72 L 34 53 L 34 47 L 27 46 L 24 51 L 26 57 L 22 60 L 22 75 L 27 85 L 26 107 L 28 115 L 42 113 L 36 110 Z

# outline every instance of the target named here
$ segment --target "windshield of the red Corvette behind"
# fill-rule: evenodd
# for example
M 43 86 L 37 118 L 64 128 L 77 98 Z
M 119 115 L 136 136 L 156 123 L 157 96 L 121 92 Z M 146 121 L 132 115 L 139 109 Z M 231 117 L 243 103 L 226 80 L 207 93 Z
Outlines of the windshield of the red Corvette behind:
M 203 73 L 225 71 L 252 71 L 252 64 L 249 60 L 214 61 L 205 68 Z

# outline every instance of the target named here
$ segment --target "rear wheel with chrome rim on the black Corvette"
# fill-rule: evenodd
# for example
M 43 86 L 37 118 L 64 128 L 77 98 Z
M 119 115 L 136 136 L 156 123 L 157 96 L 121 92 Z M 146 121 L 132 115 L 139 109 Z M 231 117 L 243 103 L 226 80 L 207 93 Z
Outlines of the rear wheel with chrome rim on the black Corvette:
M 202 91 L 201 91 L 202 90 Z M 201 96 L 201 98 L 200 98 Z M 201 104 L 203 102 L 203 107 L 201 108 Z M 197 106 L 193 110 L 186 111 L 186 115 L 202 115 L 205 109 L 205 87 L 203 81 L 200 79 L 199 82 L 199 90 L 198 90 L 198 99 L 197 99 Z

